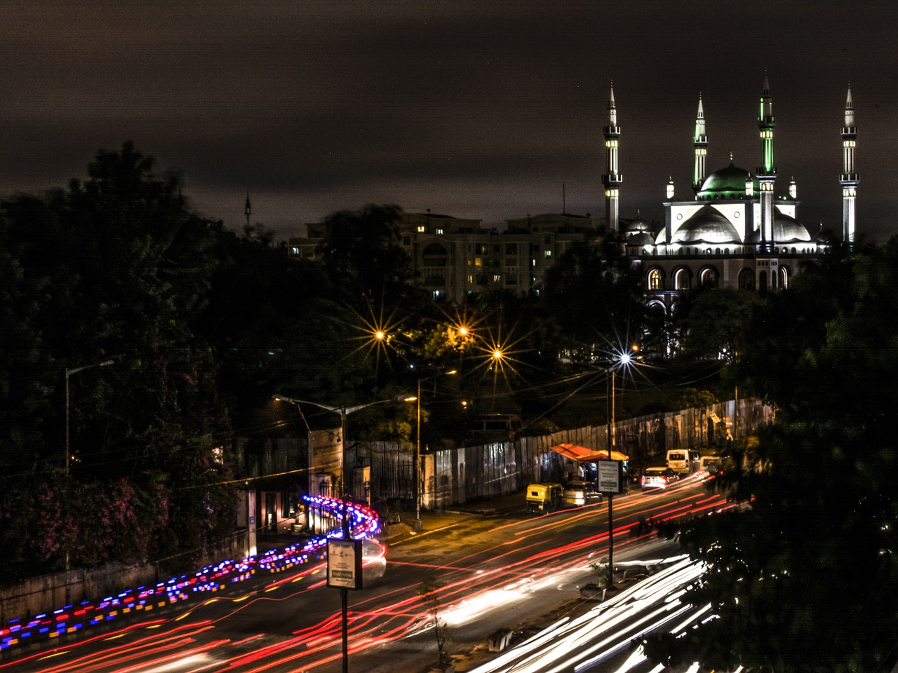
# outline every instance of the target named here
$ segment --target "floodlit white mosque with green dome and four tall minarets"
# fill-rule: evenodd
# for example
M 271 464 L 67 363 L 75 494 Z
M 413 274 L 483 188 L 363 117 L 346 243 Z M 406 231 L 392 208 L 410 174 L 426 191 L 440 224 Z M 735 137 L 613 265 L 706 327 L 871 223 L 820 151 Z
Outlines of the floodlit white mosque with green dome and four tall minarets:
M 617 123 L 612 83 L 608 126 L 604 127 L 607 172 L 605 222 L 617 234 L 634 265 L 645 274 L 649 305 L 676 308 L 678 297 L 698 288 L 739 288 L 764 292 L 788 287 L 803 258 L 825 252 L 828 245 L 819 232 L 811 232 L 797 219 L 797 188 L 789 181 L 788 194 L 774 195 L 777 177 L 773 154 L 773 99 L 764 75 L 758 129 L 761 137 L 761 166 L 754 171 L 736 167 L 706 174 L 708 135 L 699 96 L 692 142 L 695 148 L 692 191 L 689 200 L 675 197 L 674 182 L 667 183 L 664 224 L 653 229 L 641 219 L 621 226 L 620 192 L 623 178 L 618 168 Z M 851 89 L 845 101 L 842 138 L 842 232 L 843 244 L 851 248 L 855 235 L 855 198 L 858 174 L 854 153 L 857 127 Z

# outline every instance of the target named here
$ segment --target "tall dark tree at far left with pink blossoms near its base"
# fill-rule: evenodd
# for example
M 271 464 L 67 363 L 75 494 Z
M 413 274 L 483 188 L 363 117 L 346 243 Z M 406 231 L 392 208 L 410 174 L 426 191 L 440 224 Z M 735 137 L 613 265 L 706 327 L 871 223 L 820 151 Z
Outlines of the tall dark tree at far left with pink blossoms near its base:
M 233 511 L 208 504 L 230 497 L 221 466 L 203 472 L 207 506 L 190 520 L 170 516 L 168 495 L 199 479 L 185 467 L 228 429 L 197 332 L 221 223 L 191 212 L 180 180 L 131 143 L 98 153 L 84 182 L 4 201 L 2 215 L 0 313 L 13 327 L 0 336 L 0 544 L 13 564 L 158 558 L 197 527 L 230 532 Z M 82 367 L 66 405 L 66 370 Z

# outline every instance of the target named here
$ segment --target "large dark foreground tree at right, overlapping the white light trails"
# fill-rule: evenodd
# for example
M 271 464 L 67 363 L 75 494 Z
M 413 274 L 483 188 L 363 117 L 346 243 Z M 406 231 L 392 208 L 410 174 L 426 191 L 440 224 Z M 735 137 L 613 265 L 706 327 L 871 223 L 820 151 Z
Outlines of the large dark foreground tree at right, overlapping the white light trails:
M 756 315 L 739 369 L 779 413 L 742 476 L 753 500 L 682 529 L 709 564 L 687 599 L 719 618 L 650 639 L 653 658 L 777 673 L 894 664 L 896 286 L 891 240 L 808 267 Z

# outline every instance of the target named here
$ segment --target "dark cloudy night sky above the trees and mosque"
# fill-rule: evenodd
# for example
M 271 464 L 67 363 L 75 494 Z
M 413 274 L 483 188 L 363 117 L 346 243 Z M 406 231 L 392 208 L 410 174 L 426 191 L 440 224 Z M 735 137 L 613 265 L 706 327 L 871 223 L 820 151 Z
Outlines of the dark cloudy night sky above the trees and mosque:
M 620 0 L 5 0 L 0 194 L 84 178 L 125 140 L 177 170 L 191 206 L 278 239 L 366 203 L 501 226 L 604 214 L 613 80 L 621 216 L 691 195 L 699 93 L 709 172 L 761 162 L 764 70 L 777 195 L 841 227 L 851 85 L 858 235 L 898 227 L 898 3 Z

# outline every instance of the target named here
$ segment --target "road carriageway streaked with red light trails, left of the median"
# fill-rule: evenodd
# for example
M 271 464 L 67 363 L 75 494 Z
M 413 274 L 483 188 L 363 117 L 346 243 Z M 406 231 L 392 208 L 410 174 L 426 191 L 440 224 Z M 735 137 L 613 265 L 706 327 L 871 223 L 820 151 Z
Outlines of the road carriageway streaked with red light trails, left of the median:
M 578 587 L 590 579 L 588 563 L 607 554 L 606 506 L 533 517 L 519 497 L 428 514 L 418 535 L 402 526 L 388 531 L 383 580 L 349 593 L 350 671 L 433 669 L 436 639 L 418 596 L 428 581 L 443 584 L 438 614 L 452 634 L 458 673 L 495 656 L 486 642 L 499 627 L 522 640 L 555 616 L 591 607 Z M 694 481 L 669 493 L 615 498 L 615 561 L 670 551 L 657 547 L 651 531 L 638 532 L 639 517 L 677 518 L 723 506 Z M 342 670 L 339 590 L 323 585 L 321 567 L 304 566 L 158 623 L 0 662 L 0 671 L 336 673 Z

